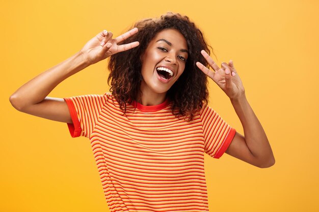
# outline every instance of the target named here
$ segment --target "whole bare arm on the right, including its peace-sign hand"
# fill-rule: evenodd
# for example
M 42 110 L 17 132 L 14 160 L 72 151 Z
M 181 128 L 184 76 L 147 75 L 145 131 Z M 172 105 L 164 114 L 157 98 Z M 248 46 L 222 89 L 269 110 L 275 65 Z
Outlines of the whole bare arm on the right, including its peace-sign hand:
M 229 97 L 244 129 L 244 135 L 236 133 L 228 146 L 226 153 L 260 168 L 267 168 L 275 164 L 275 158 L 268 138 L 253 109 L 249 105 L 241 78 L 230 61 L 223 63 L 222 68 L 202 50 L 210 70 L 197 62 L 197 66 L 208 77 L 214 80 Z

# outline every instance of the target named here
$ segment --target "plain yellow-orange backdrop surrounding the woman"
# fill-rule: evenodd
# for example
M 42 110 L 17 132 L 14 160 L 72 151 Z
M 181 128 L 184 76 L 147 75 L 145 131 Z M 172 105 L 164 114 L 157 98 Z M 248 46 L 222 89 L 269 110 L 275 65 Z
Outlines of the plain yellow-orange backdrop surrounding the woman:
M 205 156 L 210 211 L 319 211 L 318 1 L 1 1 L 0 211 L 109 211 L 88 139 L 21 113 L 9 97 L 103 29 L 115 36 L 167 11 L 188 15 L 233 59 L 276 164 L 260 169 L 227 154 Z M 107 61 L 59 84 L 50 97 L 108 91 Z M 210 105 L 240 120 L 210 81 Z

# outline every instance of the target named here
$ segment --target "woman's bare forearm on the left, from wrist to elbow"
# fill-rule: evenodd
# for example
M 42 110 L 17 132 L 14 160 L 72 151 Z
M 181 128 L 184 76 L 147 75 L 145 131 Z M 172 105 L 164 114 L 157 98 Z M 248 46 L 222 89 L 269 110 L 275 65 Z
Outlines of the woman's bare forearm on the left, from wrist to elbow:
M 37 104 L 60 82 L 88 66 L 89 64 L 84 59 L 83 54 L 77 52 L 62 63 L 48 69 L 29 82 L 23 84 L 12 94 L 10 102 L 14 107 L 19 109 Z

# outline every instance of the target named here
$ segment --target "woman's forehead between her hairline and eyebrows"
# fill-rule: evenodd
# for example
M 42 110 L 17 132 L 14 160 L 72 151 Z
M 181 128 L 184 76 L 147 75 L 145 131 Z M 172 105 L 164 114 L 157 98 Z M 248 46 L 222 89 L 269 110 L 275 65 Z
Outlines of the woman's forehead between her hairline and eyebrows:
M 161 39 L 165 39 L 172 44 L 172 46 L 179 49 L 188 49 L 187 41 L 184 36 L 177 29 L 163 29 L 161 32 L 157 33 L 156 36 L 152 39 L 151 44 L 155 44 Z

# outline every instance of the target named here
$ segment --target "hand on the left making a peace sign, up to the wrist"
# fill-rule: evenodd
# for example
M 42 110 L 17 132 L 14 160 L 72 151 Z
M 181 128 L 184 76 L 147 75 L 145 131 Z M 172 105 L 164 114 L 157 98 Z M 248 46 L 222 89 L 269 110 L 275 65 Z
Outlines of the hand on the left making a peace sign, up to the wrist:
M 113 39 L 113 34 L 104 30 L 86 43 L 80 52 L 90 65 L 95 64 L 112 54 L 137 47 L 140 44 L 138 41 L 117 45 L 137 32 L 138 28 L 132 28 L 130 31 Z

